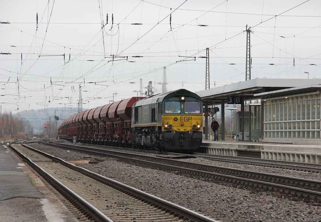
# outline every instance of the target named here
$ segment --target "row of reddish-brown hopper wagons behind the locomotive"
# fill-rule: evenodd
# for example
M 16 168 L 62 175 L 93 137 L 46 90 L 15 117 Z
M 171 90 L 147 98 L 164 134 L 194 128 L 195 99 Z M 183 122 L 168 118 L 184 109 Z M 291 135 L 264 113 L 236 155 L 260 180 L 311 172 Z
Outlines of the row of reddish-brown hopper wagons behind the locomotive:
M 69 141 L 75 136 L 77 142 L 129 147 L 131 108 L 143 98 L 132 97 L 74 114 L 60 124 L 58 135 Z

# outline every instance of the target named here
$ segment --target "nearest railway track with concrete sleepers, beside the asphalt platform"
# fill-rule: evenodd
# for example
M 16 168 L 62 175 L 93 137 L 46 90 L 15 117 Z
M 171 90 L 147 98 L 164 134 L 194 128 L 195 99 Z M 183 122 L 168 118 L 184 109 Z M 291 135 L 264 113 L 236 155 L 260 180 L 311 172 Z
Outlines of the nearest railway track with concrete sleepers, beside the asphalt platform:
M 60 192 L 90 221 L 200 221 L 215 222 L 203 215 L 164 201 L 21 144 L 14 152 Z M 28 154 L 31 161 L 25 154 Z M 37 156 L 38 155 L 38 156 Z

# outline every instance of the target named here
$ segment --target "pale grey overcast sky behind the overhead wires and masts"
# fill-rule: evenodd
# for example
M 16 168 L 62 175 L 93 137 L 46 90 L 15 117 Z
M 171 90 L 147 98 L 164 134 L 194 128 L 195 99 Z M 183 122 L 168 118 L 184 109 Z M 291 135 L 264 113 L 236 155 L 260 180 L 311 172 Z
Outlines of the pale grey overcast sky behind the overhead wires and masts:
M 136 96 L 140 79 L 159 93 L 164 66 L 168 91 L 204 90 L 206 47 L 211 88 L 245 81 L 246 25 L 252 78 L 320 78 L 320 8 L 319 0 L 2 1 L 0 51 L 10 55 L 0 55 L 0 105 L 77 107 L 81 84 L 83 107 L 93 108 L 115 92 L 115 101 Z

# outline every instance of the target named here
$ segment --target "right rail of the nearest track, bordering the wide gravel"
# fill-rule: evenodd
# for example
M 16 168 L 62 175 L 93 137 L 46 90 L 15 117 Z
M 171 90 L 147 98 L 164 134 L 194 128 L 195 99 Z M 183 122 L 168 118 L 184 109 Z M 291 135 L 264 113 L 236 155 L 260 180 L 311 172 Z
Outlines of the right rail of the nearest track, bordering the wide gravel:
M 165 201 L 165 200 L 162 200 L 158 197 L 155 197 L 153 195 L 150 195 L 148 193 L 145 193 L 143 191 L 140 191 L 140 190 L 137 190 L 133 187 L 130 187 L 130 186 L 127 186 L 125 184 L 121 184 L 117 181 L 114 181 L 114 180 L 111 180 L 107 177 L 104 177 L 102 175 L 99 175 L 99 174 L 96 174 L 96 173 L 93 173 L 89 170 L 86 170 L 82 167 L 79 167 L 79 166 L 74 166 L 73 164 L 70 164 L 60 158 L 57 158 L 57 157 L 54 157 L 54 156 L 51 156 L 47 153 L 44 153 L 44 152 L 41 152 L 37 149 L 34 149 L 32 147 L 29 147 L 25 144 L 22 143 L 22 146 L 25 147 L 25 148 L 28 148 L 34 152 L 37 152 L 47 158 L 50 158 L 52 160 L 54 160 L 55 162 L 57 163 L 60 163 L 64 166 L 67 166 L 68 168 L 71 168 L 71 169 L 74 169 L 78 172 L 81 172 L 82 174 L 84 175 L 88 175 L 90 176 L 91 178 L 101 182 L 101 183 L 104 183 L 104 184 L 109 184 L 109 186 L 111 187 L 114 187 L 115 189 L 121 191 L 121 192 L 124 192 L 138 200 L 141 200 L 141 201 L 144 201 L 145 203 L 148 203 L 148 204 L 153 204 L 154 207 L 158 207 L 159 209 L 163 209 L 163 210 L 169 210 L 170 212 L 172 213 L 175 213 L 176 215 L 179 214 L 181 215 L 180 216 L 180 219 L 184 219 L 184 221 L 190 221 L 190 222 L 217 222 L 216 220 L 213 220 L 211 218 L 208 218 L 208 217 L 205 217 L 201 214 L 198 214 L 192 210 L 189 210 L 189 209 L 186 209 L 184 207 L 181 207 L 177 204 L 174 204 L 174 203 L 171 203 L 171 202 L 168 202 L 168 201 Z

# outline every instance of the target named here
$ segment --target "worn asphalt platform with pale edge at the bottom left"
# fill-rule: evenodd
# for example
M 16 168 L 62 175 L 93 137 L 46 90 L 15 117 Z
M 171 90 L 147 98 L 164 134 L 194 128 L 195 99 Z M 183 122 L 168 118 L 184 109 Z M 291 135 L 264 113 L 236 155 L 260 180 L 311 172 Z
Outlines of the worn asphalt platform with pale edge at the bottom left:
M 78 221 L 3 144 L 0 144 L 0 187 L 1 221 Z

